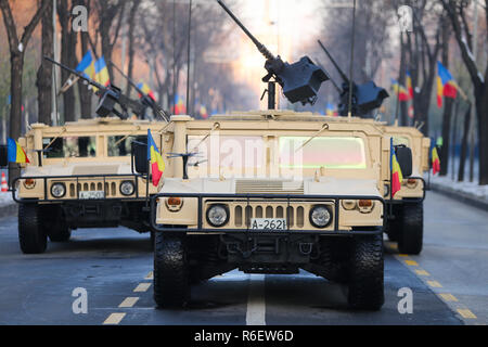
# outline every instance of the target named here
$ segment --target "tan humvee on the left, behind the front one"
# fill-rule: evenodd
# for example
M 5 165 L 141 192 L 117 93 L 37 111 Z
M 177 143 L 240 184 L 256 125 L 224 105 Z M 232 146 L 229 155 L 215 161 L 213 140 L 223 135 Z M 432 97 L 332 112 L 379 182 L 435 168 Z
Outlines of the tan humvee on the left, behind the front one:
M 47 237 L 67 241 L 77 228 L 125 226 L 147 232 L 149 193 L 157 189 L 134 174 L 133 141 L 164 123 L 95 118 L 61 127 L 31 125 L 20 144 L 30 164 L 13 184 L 18 236 L 24 253 L 42 253 Z

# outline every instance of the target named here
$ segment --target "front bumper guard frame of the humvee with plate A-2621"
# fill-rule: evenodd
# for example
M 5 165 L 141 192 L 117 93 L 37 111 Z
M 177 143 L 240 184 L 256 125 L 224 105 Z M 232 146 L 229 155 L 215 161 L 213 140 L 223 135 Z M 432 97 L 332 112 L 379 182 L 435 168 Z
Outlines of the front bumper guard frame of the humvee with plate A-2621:
M 159 224 L 157 223 L 158 202 L 167 197 L 181 197 L 196 200 L 197 215 L 195 218 L 195 226 L 191 228 L 183 228 L 179 226 Z M 361 201 L 370 200 L 381 205 L 381 209 L 376 210 L 377 219 L 371 224 L 359 223 L 358 228 L 341 228 L 343 224 L 342 218 L 347 218 L 347 213 L 343 210 L 342 201 Z M 324 229 L 319 228 L 293 228 L 290 222 L 291 216 L 287 214 L 283 216 L 287 220 L 287 229 L 280 231 L 253 230 L 249 223 L 244 223 L 241 228 L 213 228 L 205 221 L 205 206 L 215 202 L 219 203 L 234 203 L 239 202 L 245 207 L 252 207 L 257 201 L 271 203 L 281 203 L 281 205 L 291 207 L 296 202 L 305 202 L 306 204 L 326 204 L 331 206 L 332 222 L 330 227 Z M 375 207 L 380 208 L 380 206 Z M 316 235 L 351 235 L 351 234 L 376 234 L 377 227 L 385 224 L 385 201 L 378 196 L 370 195 L 288 195 L 288 194 L 180 194 L 180 193 L 163 193 L 151 197 L 151 226 L 158 232 L 182 232 L 182 233 L 217 233 L 217 234 L 264 234 L 264 235 L 286 235 L 286 234 L 316 234 Z M 363 215 L 367 216 L 367 215 Z M 307 217 L 308 218 L 308 217 Z M 365 218 L 365 217 L 364 217 Z M 378 224 L 380 223 L 380 224 Z M 305 223 L 304 223 L 305 226 Z M 380 229 L 381 231 L 381 229 Z

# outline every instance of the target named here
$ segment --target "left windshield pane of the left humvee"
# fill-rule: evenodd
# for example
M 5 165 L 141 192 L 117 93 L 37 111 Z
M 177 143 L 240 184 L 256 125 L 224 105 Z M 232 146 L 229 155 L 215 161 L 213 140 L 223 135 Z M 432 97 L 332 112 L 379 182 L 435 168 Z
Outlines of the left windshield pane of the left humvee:
M 97 156 L 97 139 L 95 137 L 66 137 L 43 138 L 42 146 L 46 149 L 44 158 L 87 158 Z

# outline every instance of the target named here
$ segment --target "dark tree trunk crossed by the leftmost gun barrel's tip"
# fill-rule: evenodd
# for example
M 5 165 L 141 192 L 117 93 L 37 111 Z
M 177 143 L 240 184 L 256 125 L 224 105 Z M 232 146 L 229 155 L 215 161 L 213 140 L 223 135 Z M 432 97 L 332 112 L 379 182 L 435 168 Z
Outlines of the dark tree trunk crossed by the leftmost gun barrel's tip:
M 42 15 L 42 55 L 53 56 L 53 27 L 52 27 L 52 1 Z M 51 125 L 52 113 L 52 64 L 41 60 L 41 65 L 37 72 L 37 102 L 39 108 L 38 121 Z

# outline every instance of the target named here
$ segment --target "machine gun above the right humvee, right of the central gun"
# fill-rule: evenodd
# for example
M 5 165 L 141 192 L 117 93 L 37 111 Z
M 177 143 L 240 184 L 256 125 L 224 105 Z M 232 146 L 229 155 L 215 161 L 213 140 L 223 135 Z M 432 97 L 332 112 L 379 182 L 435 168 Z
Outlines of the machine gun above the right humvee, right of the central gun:
M 320 40 L 319 44 L 325 52 L 328 57 L 331 60 L 332 64 L 334 64 L 335 68 L 343 79 L 338 111 L 341 116 L 345 117 L 349 113 L 349 89 L 351 86 L 350 80 L 346 76 L 346 74 L 344 74 L 335 60 L 332 57 L 331 53 L 329 53 L 328 49 L 322 44 Z M 383 101 L 388 97 L 388 92 L 385 89 L 377 87 L 372 80 L 359 86 L 352 82 L 352 110 L 350 110 L 351 114 L 354 116 L 365 116 L 372 111 L 381 107 Z

